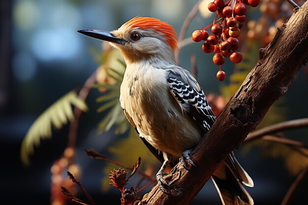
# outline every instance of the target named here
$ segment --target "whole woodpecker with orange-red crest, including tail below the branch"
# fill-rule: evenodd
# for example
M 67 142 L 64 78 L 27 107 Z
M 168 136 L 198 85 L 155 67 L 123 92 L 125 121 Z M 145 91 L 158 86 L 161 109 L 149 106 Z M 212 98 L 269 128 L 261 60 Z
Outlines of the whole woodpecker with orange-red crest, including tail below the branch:
M 141 140 L 162 162 L 156 179 L 160 190 L 170 195 L 172 186 L 163 178 L 165 168 L 179 161 L 187 170 L 196 167 L 189 155 L 216 119 L 197 80 L 176 63 L 175 29 L 159 19 L 137 16 L 113 31 L 77 31 L 108 41 L 122 53 L 126 70 L 121 107 Z M 253 205 L 243 186 L 253 187 L 253 181 L 233 152 L 212 180 L 223 205 Z

